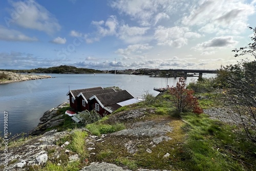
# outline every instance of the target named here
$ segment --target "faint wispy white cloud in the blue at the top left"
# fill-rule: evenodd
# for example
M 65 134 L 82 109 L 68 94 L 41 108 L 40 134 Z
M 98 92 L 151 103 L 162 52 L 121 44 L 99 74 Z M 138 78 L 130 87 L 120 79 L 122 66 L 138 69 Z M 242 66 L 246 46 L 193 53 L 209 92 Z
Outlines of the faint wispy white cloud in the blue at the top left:
M 60 25 L 57 19 L 43 6 L 36 3 L 34 0 L 30 1 L 10 1 L 14 9 L 19 9 L 17 13 L 11 10 L 11 17 L 13 22 L 21 27 L 28 29 L 35 29 L 52 34 L 60 30 Z

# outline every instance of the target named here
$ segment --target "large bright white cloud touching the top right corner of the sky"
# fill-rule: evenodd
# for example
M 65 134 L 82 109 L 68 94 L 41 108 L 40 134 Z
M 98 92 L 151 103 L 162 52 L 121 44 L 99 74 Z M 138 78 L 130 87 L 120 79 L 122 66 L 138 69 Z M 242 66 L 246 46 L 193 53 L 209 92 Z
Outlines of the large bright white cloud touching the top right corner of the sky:
M 199 26 L 205 33 L 240 34 L 246 29 L 247 20 L 255 8 L 244 1 L 201 0 L 182 18 L 186 26 Z

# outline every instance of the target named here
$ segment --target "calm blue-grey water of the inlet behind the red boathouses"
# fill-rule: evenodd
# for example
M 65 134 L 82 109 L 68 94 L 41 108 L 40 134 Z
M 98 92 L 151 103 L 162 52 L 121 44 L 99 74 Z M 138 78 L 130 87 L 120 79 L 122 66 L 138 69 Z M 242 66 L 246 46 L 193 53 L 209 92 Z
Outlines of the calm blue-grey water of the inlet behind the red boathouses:
M 68 101 L 70 90 L 115 86 L 114 74 L 49 74 L 55 78 L 0 84 L 0 131 L 4 132 L 4 112 L 8 112 L 8 132 L 29 132 L 37 126 L 45 111 Z M 204 76 L 205 77 L 205 76 Z M 196 77 L 187 78 L 187 83 Z M 169 86 L 177 79 L 168 78 Z M 141 98 L 145 92 L 157 95 L 153 88 L 166 87 L 166 78 L 116 75 L 116 86 Z

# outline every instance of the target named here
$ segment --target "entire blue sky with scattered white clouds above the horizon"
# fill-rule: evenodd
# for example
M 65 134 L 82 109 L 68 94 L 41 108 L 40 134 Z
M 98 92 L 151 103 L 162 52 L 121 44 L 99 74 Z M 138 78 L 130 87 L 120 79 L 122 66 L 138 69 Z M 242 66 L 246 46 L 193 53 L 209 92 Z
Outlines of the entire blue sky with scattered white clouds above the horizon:
M 256 27 L 256 0 L 2 0 L 0 69 L 219 69 Z M 116 62 L 115 62 L 116 60 Z

